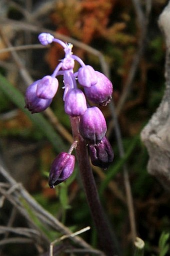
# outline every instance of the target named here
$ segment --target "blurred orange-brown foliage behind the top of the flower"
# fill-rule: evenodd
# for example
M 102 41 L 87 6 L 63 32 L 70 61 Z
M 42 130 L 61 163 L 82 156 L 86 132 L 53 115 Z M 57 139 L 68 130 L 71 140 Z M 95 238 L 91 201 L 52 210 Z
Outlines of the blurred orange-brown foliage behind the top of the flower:
M 113 43 L 132 42 L 132 37 L 122 33 L 126 27 L 124 22 L 109 25 L 111 13 L 117 3 L 117 0 L 59 1 L 51 20 L 57 28 L 56 32 L 74 37 L 88 45 L 97 38 L 104 38 Z M 83 58 L 84 51 L 74 50 L 74 54 Z M 51 46 L 46 58 L 53 70 L 56 60 L 60 59 L 58 46 Z

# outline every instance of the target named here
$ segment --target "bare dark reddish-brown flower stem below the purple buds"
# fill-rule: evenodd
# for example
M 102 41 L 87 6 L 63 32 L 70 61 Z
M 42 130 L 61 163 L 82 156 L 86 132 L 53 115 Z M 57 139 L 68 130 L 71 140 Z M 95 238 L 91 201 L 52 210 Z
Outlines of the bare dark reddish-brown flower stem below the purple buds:
M 105 215 L 100 204 L 94 177 L 89 163 L 86 142 L 79 134 L 79 118 L 70 117 L 70 122 L 73 138 L 74 140 L 77 140 L 77 146 L 75 149 L 76 157 L 88 205 L 97 230 L 99 246 L 107 256 L 113 256 L 116 254 L 114 245 L 115 241 L 113 241 L 112 232 L 109 229 L 109 225 L 105 219 Z

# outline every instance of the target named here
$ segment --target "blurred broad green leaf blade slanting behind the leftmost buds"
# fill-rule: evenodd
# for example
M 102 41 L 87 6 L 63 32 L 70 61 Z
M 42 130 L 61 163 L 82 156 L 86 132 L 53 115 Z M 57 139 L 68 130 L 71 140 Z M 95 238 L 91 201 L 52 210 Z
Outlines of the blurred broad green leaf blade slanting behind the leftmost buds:
M 27 109 L 25 109 L 23 95 L 16 88 L 14 88 L 1 74 L 0 90 L 10 99 L 11 102 L 13 102 L 25 113 L 25 115 L 29 117 L 32 123 L 39 129 L 39 131 L 43 133 L 43 135 L 49 140 L 57 152 L 66 151 L 66 146 L 63 144 L 63 141 L 59 135 L 57 135 L 56 131 L 49 124 L 49 122 L 43 117 L 42 114 L 31 114 Z

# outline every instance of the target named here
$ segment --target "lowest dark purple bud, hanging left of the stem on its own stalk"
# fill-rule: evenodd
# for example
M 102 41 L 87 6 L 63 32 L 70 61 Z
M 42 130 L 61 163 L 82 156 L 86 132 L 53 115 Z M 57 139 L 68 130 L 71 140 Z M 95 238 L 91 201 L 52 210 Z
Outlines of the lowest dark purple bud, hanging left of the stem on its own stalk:
M 60 152 L 53 160 L 50 172 L 48 184 L 50 188 L 58 185 L 65 179 L 69 178 L 74 169 L 75 157 L 66 152 Z

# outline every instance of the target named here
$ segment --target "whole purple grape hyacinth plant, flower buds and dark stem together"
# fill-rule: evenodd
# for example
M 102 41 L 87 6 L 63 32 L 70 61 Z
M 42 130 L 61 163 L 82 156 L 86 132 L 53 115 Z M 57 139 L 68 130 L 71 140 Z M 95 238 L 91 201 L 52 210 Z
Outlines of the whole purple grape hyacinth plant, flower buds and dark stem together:
M 64 110 L 69 115 L 74 139 L 68 153 L 61 152 L 54 159 L 49 172 L 48 184 L 53 188 L 72 174 L 75 158 L 71 153 L 75 148 L 100 246 L 106 255 L 113 255 L 115 250 L 111 234 L 109 234 L 109 228 L 102 213 L 88 157 L 89 152 L 91 163 L 106 169 L 113 160 L 113 152 L 105 137 L 107 127 L 102 112 L 98 107 L 91 107 L 86 102 L 88 99 L 94 104 L 106 106 L 111 99 L 112 84 L 102 73 L 85 65 L 78 56 L 73 55 L 71 44 L 55 39 L 48 33 L 41 33 L 38 40 L 44 46 L 51 43 L 60 44 L 65 56 L 51 75 L 46 75 L 28 86 L 25 92 L 25 108 L 32 114 L 48 108 L 58 89 L 57 76 L 63 76 Z M 76 72 L 73 70 L 75 61 L 80 65 Z

